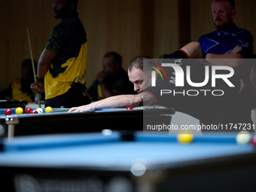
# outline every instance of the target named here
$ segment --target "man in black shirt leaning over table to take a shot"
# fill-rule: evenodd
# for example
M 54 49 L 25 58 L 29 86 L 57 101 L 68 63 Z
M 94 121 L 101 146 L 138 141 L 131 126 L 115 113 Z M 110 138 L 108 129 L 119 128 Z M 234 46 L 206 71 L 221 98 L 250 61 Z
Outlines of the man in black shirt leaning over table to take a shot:
M 187 67 L 190 66 L 190 79 L 193 82 L 203 82 L 205 79 L 206 63 L 198 62 L 198 60 L 187 58 L 202 58 L 201 47 L 198 42 L 190 42 L 166 57 L 168 63 L 179 62 L 184 74 L 186 74 Z M 112 96 L 107 99 L 102 99 L 99 102 L 93 102 L 89 105 L 82 105 L 80 107 L 71 108 L 69 112 L 78 111 L 94 111 L 99 108 L 127 108 L 139 107 L 143 105 L 162 105 L 166 108 L 174 108 L 175 111 L 181 111 L 190 116 L 196 117 L 200 120 L 205 120 L 209 124 L 218 123 L 232 123 L 225 122 L 225 117 L 229 112 L 230 105 L 233 105 L 233 99 L 239 95 L 242 88 L 245 86 L 243 81 L 233 75 L 228 80 L 234 85 L 230 87 L 225 81 L 216 81 L 216 86 L 208 83 L 203 87 L 192 87 L 184 81 L 184 87 L 176 87 L 175 83 L 170 83 L 175 79 L 175 71 L 172 67 L 163 67 L 166 72 L 166 81 L 157 78 L 156 86 L 151 87 L 151 71 L 150 67 L 144 67 L 143 59 L 151 59 L 148 56 L 138 56 L 133 59 L 128 68 L 128 76 L 130 81 L 134 84 L 134 90 L 138 95 L 120 95 Z M 165 59 L 165 62 L 166 62 Z M 152 62 L 154 62 L 152 60 Z M 147 68 L 147 69 L 145 69 Z M 221 70 L 220 70 L 221 71 Z M 227 73 L 227 71 L 226 71 Z M 144 76 L 144 78 L 143 78 Z M 171 81 L 170 81 L 171 80 Z M 202 90 L 223 90 L 222 96 L 215 96 L 206 91 L 200 93 Z M 172 93 L 162 94 L 161 90 L 172 90 Z M 187 90 L 199 90 L 197 96 L 189 96 Z M 176 94 L 174 94 L 174 92 Z M 183 93 L 183 94 L 181 94 Z M 242 122 L 241 122 L 242 123 Z

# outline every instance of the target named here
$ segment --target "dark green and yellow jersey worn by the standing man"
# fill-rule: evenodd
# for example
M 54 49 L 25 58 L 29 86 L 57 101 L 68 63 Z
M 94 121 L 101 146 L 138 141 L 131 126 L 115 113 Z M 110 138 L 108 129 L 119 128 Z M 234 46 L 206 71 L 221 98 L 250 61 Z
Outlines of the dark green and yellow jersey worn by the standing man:
M 69 14 L 53 28 L 45 48 L 56 53 L 44 76 L 45 99 L 74 87 L 86 90 L 87 34 L 78 13 Z

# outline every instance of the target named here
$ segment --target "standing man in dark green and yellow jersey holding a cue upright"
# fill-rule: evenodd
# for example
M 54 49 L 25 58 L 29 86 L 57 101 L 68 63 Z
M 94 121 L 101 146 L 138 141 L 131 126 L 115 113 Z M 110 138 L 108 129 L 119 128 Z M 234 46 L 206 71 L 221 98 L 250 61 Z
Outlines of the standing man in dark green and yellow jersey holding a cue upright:
M 45 91 L 45 107 L 70 108 L 90 103 L 85 96 L 87 33 L 78 17 L 78 0 L 53 1 L 53 15 L 62 19 L 38 61 L 34 93 Z M 43 80 L 44 79 L 44 80 Z

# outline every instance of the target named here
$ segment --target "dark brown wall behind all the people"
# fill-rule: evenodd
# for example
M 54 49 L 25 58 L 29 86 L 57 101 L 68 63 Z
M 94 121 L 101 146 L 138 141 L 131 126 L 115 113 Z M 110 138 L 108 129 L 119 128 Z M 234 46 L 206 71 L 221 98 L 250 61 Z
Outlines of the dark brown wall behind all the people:
M 0 89 L 20 77 L 20 64 L 32 53 L 38 61 L 51 29 L 60 20 L 53 17 L 51 1 L 1 0 Z M 79 0 L 78 13 L 87 30 L 87 86 L 101 70 L 102 56 L 117 51 L 123 68 L 136 56 L 159 58 L 172 53 L 200 35 L 215 30 L 211 0 Z M 251 30 L 256 1 L 236 0 L 236 24 Z M 254 47 L 256 44 L 254 42 Z

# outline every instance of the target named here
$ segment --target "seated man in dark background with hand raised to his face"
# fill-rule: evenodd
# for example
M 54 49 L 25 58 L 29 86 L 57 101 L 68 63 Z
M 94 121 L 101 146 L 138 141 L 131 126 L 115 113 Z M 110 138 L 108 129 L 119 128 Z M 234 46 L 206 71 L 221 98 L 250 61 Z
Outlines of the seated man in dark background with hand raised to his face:
M 127 72 L 123 70 L 121 64 L 122 58 L 118 53 L 105 53 L 102 59 L 102 72 L 99 72 L 86 92 L 92 101 L 134 93 L 133 84 L 129 81 Z

